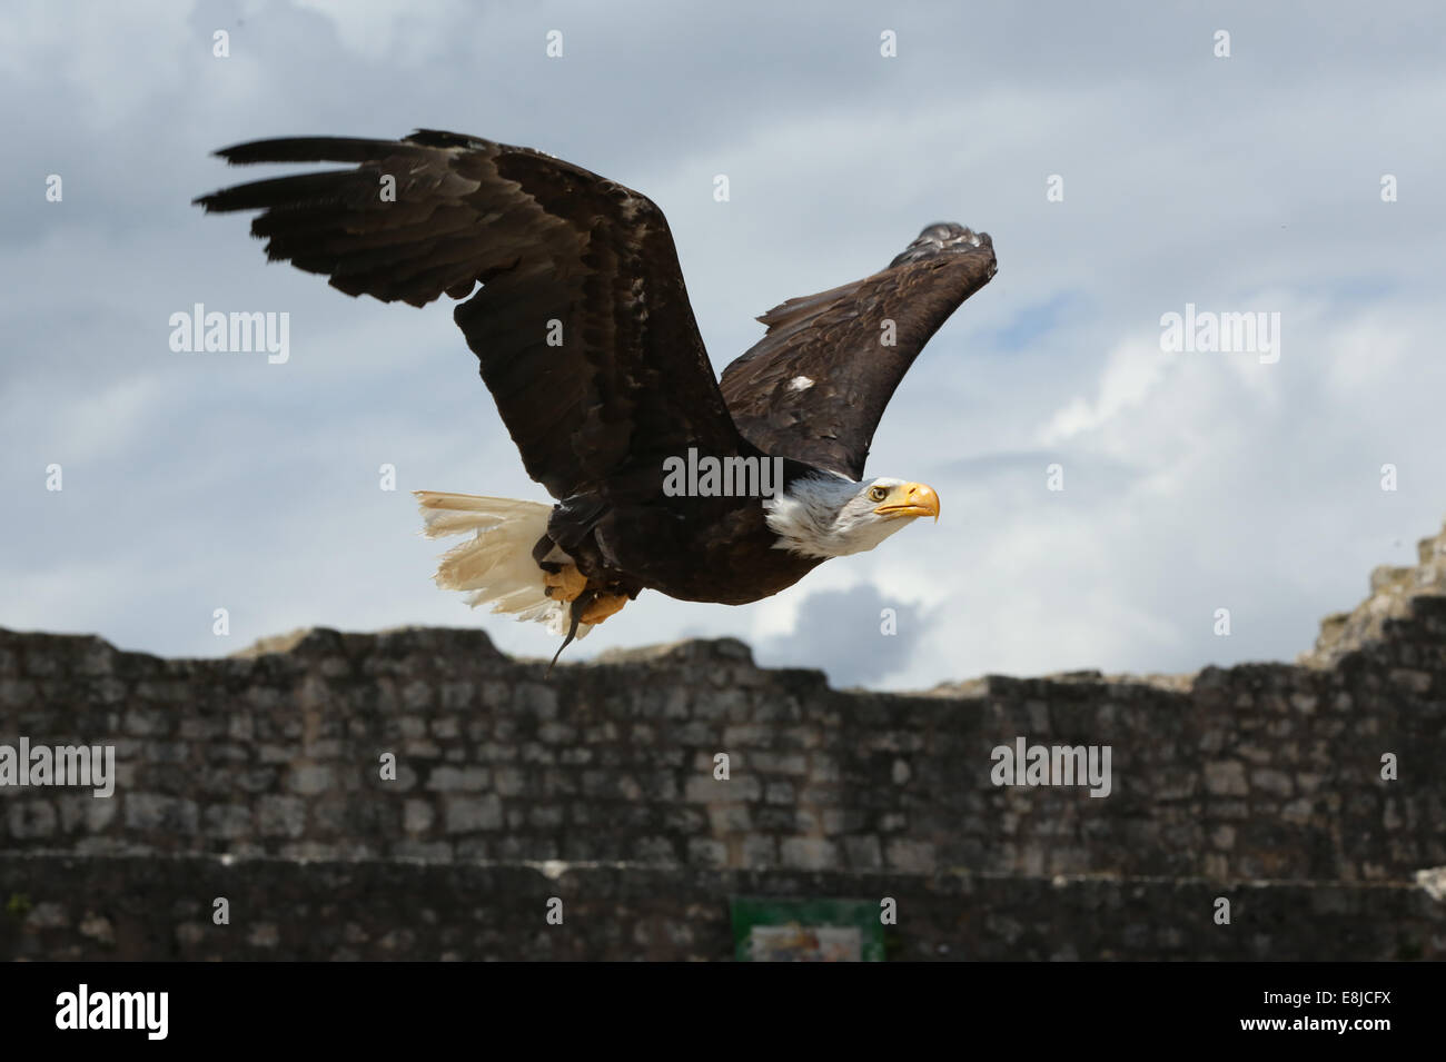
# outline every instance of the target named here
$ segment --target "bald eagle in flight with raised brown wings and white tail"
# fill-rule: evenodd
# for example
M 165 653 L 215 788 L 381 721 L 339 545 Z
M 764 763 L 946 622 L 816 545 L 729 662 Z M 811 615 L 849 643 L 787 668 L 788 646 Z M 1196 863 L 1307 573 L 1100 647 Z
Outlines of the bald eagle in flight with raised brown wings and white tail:
M 545 621 L 565 647 L 643 590 L 746 604 L 938 519 L 930 487 L 866 480 L 863 462 L 920 350 L 995 275 L 988 234 L 928 225 L 882 272 L 775 306 L 719 380 L 662 211 L 613 181 L 437 130 L 217 155 L 354 163 L 195 201 L 262 211 L 269 260 L 351 296 L 461 301 L 502 422 L 555 498 L 416 491 L 428 536 L 473 535 L 435 577 L 473 607 Z

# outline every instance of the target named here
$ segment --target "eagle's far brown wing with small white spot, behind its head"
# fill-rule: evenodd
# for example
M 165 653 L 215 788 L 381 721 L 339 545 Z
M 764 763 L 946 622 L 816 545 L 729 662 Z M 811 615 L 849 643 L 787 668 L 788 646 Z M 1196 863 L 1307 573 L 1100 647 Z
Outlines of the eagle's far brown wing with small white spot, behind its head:
M 940 223 L 882 273 L 775 306 L 759 318 L 768 334 L 723 370 L 733 422 L 766 454 L 862 480 L 899 380 L 993 275 L 986 233 Z

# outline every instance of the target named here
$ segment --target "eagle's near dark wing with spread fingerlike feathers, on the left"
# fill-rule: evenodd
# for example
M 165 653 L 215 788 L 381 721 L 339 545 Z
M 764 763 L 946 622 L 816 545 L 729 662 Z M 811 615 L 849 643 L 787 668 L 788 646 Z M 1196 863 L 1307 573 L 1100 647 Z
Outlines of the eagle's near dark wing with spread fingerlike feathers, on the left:
M 698 335 L 678 253 L 646 197 L 526 147 L 419 130 L 217 152 L 231 163 L 351 162 L 227 188 L 207 211 L 260 210 L 272 260 L 347 295 L 421 306 L 442 293 L 528 474 L 557 498 L 667 457 L 745 445 Z M 482 282 L 483 288 L 473 295 Z M 470 298 L 469 298 L 470 296 Z

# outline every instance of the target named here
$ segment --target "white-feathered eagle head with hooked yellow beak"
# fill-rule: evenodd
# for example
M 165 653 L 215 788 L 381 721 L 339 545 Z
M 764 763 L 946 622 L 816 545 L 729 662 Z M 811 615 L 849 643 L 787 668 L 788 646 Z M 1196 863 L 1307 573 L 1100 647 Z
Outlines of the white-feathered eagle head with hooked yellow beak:
M 775 549 L 800 556 L 847 556 L 873 549 L 921 516 L 938 519 L 933 487 L 879 477 L 855 483 L 842 475 L 794 480 L 763 501 Z

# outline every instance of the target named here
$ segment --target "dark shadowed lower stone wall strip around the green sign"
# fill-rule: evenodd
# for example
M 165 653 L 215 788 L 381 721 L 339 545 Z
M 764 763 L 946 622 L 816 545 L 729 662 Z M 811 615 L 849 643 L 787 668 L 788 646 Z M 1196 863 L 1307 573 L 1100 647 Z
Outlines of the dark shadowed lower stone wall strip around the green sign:
M 727 959 L 727 899 L 761 894 L 891 897 L 898 959 L 1446 959 L 1446 905 L 1401 883 L 140 855 L 0 855 L 0 957 Z

